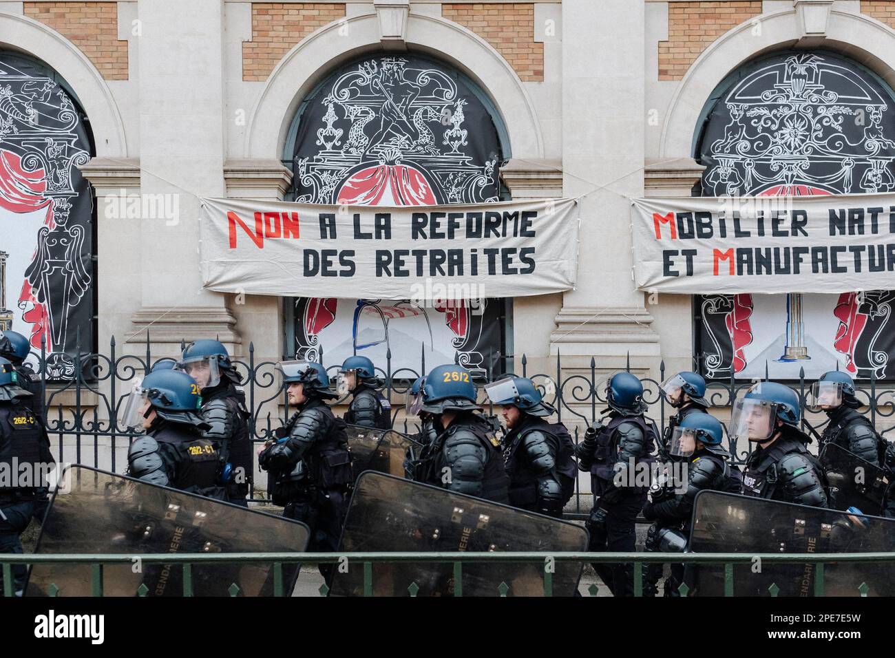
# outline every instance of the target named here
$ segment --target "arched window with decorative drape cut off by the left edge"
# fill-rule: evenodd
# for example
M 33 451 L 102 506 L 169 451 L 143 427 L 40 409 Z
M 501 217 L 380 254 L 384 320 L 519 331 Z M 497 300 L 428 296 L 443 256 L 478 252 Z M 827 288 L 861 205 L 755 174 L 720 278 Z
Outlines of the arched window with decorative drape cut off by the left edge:
M 47 376 L 71 379 L 95 344 L 94 203 L 78 167 L 87 117 L 46 64 L 0 51 L 0 325 L 47 343 Z

